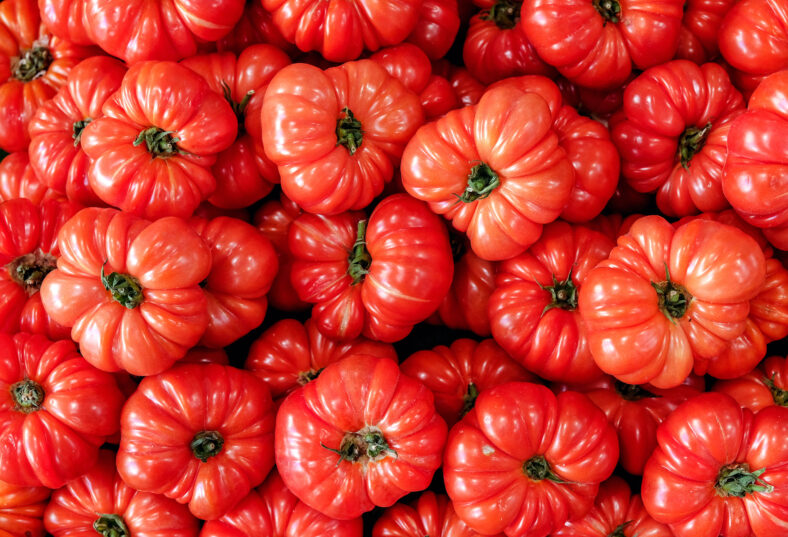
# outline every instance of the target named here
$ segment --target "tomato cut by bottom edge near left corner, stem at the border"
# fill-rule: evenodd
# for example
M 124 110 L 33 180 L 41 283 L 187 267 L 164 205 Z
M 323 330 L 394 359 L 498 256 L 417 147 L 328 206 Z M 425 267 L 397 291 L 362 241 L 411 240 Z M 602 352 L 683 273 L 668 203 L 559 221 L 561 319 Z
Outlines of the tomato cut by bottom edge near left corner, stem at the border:
M 197 519 L 183 505 L 124 483 L 115 469 L 115 454 L 107 450 L 90 471 L 52 494 L 44 516 L 54 537 L 157 537 L 165 532 L 197 537 L 199 532 Z

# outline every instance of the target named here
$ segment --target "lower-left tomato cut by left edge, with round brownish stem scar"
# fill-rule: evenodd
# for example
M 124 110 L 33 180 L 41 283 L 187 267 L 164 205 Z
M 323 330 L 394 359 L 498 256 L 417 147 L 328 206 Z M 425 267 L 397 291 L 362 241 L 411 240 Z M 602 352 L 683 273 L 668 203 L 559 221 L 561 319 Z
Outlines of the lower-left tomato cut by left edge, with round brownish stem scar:
M 0 334 L 0 473 L 9 483 L 56 488 L 96 462 L 118 430 L 124 397 L 71 341 Z

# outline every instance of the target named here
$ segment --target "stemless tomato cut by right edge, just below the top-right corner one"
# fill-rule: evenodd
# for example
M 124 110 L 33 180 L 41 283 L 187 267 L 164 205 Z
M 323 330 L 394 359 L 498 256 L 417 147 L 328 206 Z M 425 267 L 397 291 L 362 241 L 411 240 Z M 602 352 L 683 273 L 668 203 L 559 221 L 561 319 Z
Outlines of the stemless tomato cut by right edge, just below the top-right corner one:
M 788 69 L 761 82 L 728 135 L 722 190 L 739 216 L 788 249 Z

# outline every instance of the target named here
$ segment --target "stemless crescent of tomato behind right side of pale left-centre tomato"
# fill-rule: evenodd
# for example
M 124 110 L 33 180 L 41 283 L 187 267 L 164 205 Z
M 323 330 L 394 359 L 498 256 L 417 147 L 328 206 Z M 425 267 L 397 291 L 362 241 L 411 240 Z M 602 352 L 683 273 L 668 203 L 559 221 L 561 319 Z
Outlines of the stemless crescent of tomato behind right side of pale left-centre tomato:
M 271 241 L 235 218 L 192 218 L 189 223 L 211 249 L 211 272 L 201 283 L 208 300 L 208 328 L 200 345 L 225 347 L 263 322 L 266 293 L 279 268 Z

